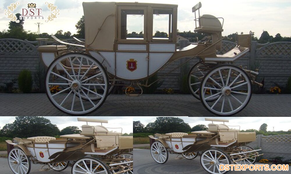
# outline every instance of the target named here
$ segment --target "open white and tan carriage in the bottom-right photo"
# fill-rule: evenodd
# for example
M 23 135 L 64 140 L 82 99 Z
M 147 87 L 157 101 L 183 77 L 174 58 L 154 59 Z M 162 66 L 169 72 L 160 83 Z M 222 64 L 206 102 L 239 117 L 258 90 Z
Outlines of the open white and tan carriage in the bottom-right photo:
M 219 171 L 219 164 L 254 164 L 261 149 L 254 150 L 246 144 L 255 141 L 255 132 L 240 132 L 224 124 L 228 120 L 208 119 L 207 131 L 187 133 L 155 134 L 149 137 L 155 139 L 150 153 L 155 162 L 164 164 L 168 160 L 168 153 L 178 154 L 177 159 L 194 159 L 201 155 L 202 167 L 209 173 L 226 173 Z M 223 124 L 213 124 L 213 122 Z M 199 153 L 198 153 L 199 152 Z M 179 157 L 180 156 L 180 157 Z

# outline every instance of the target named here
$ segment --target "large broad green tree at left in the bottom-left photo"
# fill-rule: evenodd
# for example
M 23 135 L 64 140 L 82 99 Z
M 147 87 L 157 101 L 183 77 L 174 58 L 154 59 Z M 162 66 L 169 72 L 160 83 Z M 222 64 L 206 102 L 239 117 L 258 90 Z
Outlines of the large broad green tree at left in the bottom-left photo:
M 3 131 L 4 127 L 5 130 Z M 58 127 L 44 117 L 34 116 L 19 116 L 11 124 L 6 124 L 1 130 L 1 136 L 6 137 L 35 137 L 35 136 L 50 136 L 58 135 L 60 130 Z M 8 133 L 8 134 L 6 134 Z M 10 135 L 9 135 L 10 134 Z

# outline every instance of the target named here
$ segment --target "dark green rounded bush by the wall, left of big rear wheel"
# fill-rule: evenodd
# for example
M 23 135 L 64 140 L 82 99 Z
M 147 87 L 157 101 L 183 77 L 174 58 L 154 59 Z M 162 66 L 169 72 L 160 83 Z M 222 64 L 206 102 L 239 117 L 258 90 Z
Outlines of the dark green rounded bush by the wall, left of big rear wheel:
M 32 86 L 32 77 L 30 70 L 22 70 L 18 75 L 19 90 L 23 93 L 30 93 Z

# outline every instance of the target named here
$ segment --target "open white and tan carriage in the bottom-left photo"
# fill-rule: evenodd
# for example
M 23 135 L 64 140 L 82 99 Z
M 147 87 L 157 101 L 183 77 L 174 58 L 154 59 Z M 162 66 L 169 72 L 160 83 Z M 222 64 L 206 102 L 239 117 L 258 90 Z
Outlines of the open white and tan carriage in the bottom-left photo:
M 14 138 L 8 164 L 15 174 L 28 174 L 33 164 L 43 164 L 40 171 L 62 171 L 72 166 L 72 174 L 133 173 L 133 137 L 109 132 L 102 126 L 107 120 L 78 118 L 78 121 L 99 122 L 101 126 L 83 125 L 80 134 L 55 137 Z M 119 129 L 119 128 L 118 128 Z M 46 168 L 44 168 L 46 167 Z M 44 168 L 44 169 L 43 169 Z

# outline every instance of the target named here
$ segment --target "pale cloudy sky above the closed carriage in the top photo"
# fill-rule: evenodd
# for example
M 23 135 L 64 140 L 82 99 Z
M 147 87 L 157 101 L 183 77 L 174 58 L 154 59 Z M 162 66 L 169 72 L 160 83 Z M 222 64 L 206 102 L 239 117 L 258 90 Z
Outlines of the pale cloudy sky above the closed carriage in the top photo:
M 20 5 L 15 10 L 15 13 L 22 13 L 21 8 L 27 7 L 28 3 L 33 2 L 37 4 L 37 8 L 42 8 L 43 15 L 47 17 L 49 15 L 49 10 L 45 5 L 46 1 L 49 3 L 54 3 L 54 5 L 56 5 L 60 10 L 60 15 L 54 19 L 54 21 L 49 21 L 48 23 L 46 23 L 45 20 L 27 19 L 24 22 L 24 29 L 37 32 L 37 25 L 35 25 L 35 23 L 40 22 L 43 23 L 40 26 L 41 33 L 47 32 L 49 34 L 55 34 L 57 30 L 63 30 L 63 32 L 70 31 L 72 34 L 76 33 L 77 30 L 75 24 L 84 14 L 82 7 L 82 2 L 84 0 L 19 0 Z M 121 1 L 135 2 L 136 0 Z M 229 35 L 235 32 L 244 32 L 247 34 L 250 30 L 252 30 L 255 32 L 255 36 L 259 38 L 262 31 L 266 30 L 272 36 L 275 36 L 277 33 L 280 33 L 281 36 L 291 36 L 290 0 L 200 1 L 202 3 L 200 14 L 212 14 L 216 17 L 224 18 L 224 31 L 222 35 Z M 15 2 L 16 0 L 0 1 L 0 31 L 8 29 L 9 19 L 7 19 L 4 15 L 4 10 L 10 5 L 10 3 Z M 178 29 L 180 31 L 193 31 L 195 28 L 195 23 L 193 21 L 194 14 L 191 9 L 196 3 L 199 2 L 199 0 L 140 0 L 138 2 L 178 4 Z

